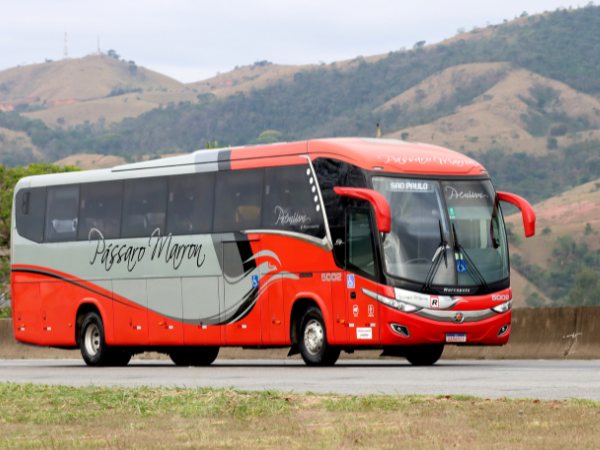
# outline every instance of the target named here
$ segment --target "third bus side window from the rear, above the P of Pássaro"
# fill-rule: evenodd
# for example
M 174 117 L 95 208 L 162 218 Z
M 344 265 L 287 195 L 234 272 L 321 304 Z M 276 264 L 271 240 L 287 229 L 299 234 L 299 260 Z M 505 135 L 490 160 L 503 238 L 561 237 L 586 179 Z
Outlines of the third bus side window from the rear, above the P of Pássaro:
M 79 239 L 88 239 L 92 229 L 100 231 L 105 239 L 119 237 L 122 191 L 120 182 L 81 185 Z

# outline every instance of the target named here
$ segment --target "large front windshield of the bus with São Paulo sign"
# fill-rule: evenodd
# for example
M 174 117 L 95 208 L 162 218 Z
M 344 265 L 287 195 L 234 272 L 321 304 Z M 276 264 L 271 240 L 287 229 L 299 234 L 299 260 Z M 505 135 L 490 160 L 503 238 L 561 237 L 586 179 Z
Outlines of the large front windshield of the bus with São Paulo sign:
M 508 278 L 503 220 L 489 180 L 373 177 L 388 200 L 386 272 L 431 286 L 487 286 Z

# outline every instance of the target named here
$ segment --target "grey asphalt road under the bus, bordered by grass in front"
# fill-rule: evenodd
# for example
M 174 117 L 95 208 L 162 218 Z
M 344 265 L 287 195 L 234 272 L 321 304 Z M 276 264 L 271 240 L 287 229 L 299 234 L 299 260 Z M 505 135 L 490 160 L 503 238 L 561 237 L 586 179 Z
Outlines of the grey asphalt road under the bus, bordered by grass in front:
M 114 368 L 86 367 L 81 360 L 0 360 L 0 382 L 600 400 L 600 360 L 441 360 L 433 367 L 342 360 L 325 368 L 258 359 L 217 359 L 210 367 L 134 360 Z

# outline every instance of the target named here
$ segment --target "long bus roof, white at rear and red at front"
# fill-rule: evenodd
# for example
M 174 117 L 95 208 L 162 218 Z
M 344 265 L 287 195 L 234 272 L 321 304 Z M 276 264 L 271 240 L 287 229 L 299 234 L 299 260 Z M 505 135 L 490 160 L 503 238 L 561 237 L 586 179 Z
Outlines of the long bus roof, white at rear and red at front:
M 268 145 L 197 150 L 150 161 L 65 174 L 38 175 L 19 181 L 20 186 L 44 186 L 154 175 L 245 169 L 297 164 L 298 157 L 333 158 L 366 170 L 414 175 L 486 175 L 477 161 L 430 144 L 380 138 L 331 138 Z

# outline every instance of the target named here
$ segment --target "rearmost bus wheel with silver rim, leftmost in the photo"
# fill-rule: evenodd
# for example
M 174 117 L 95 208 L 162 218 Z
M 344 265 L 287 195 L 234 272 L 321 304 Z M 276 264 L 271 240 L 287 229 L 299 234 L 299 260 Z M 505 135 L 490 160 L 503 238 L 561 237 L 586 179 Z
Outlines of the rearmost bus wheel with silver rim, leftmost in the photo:
M 88 366 L 126 366 L 131 353 L 118 347 L 109 347 L 104 338 L 104 324 L 96 312 L 85 315 L 79 334 L 79 349 Z

